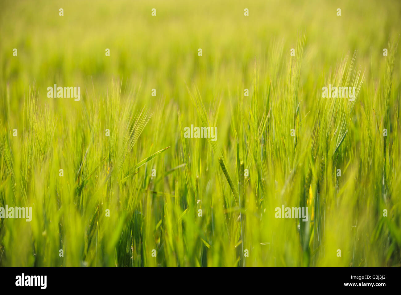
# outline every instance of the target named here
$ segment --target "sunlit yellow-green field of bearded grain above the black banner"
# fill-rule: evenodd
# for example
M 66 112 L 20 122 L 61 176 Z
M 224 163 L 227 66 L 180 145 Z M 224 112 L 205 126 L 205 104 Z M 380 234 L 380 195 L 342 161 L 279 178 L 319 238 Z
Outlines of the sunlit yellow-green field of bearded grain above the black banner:
M 391 0 L 0 1 L 0 207 L 32 208 L 0 219 L 0 266 L 401 266 L 400 16 Z

